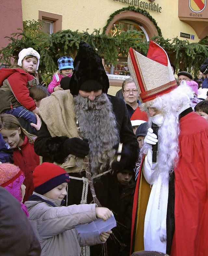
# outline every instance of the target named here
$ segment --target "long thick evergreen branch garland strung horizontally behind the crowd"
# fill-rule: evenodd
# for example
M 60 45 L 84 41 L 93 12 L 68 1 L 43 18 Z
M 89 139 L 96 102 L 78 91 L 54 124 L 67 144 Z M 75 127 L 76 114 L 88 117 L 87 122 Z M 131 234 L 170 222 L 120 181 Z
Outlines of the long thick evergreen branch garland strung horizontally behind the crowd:
M 133 7 L 131 7 L 133 8 Z M 142 10 L 145 12 L 145 10 Z M 23 48 L 32 47 L 40 55 L 39 71 L 43 80 L 48 84 L 52 75 L 57 71 L 57 60 L 61 56 L 76 56 L 81 40 L 89 43 L 105 59 L 106 64 L 116 64 L 118 58 L 127 57 L 129 48 L 132 47 L 144 56 L 147 55 L 149 42 L 143 41 L 141 31 L 129 30 L 118 32 L 113 37 L 100 34 L 100 29 L 94 29 L 89 34 L 88 29 L 83 33 L 71 30 L 63 30 L 52 35 L 48 35 L 41 30 L 42 21 L 25 21 L 23 30 L 7 37 L 9 44 L 0 50 L 0 62 L 10 64 L 11 59 L 18 60 L 18 54 Z M 151 40 L 156 41 L 167 52 L 169 58 L 175 60 L 178 69 L 179 64 L 183 64 L 183 69 L 189 72 L 197 72 L 208 56 L 207 40 L 202 43 L 189 43 L 188 40 L 164 39 L 161 36 L 154 36 Z

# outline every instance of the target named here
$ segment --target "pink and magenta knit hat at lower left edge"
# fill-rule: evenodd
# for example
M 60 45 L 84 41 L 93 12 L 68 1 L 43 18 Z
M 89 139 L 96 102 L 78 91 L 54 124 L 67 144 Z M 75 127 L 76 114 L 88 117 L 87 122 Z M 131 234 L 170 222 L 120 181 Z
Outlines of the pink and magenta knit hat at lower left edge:
M 19 202 L 22 201 L 21 184 L 24 179 L 24 173 L 19 167 L 9 163 L 0 164 L 0 185 Z

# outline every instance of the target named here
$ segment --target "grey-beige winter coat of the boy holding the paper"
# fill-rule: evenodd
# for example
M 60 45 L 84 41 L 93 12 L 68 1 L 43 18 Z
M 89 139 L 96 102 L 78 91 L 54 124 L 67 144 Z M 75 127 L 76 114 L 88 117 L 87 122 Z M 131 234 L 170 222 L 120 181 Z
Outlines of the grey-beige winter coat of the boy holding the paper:
M 96 204 L 60 206 L 61 201 L 48 199 L 33 192 L 44 200 L 50 200 L 57 207 L 46 202 L 25 202 L 29 221 L 41 245 L 41 256 L 80 256 L 80 246 L 102 243 L 99 236 L 85 240 L 74 229 L 79 224 L 96 219 Z

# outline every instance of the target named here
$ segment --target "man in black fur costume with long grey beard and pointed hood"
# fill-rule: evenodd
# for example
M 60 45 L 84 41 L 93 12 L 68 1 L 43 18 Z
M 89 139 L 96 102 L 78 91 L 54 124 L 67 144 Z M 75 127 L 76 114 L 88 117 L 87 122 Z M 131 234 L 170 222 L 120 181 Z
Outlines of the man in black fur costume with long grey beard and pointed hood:
M 124 101 L 108 95 L 108 88 L 101 58 L 81 41 L 70 91 L 54 92 L 41 102 L 39 112 L 43 121 L 34 149 L 43 156 L 43 161 L 55 162 L 78 179 L 85 177 L 83 159 L 87 156 L 95 194 L 116 218 L 119 188 L 109 170 L 135 166 L 138 143 Z M 68 205 L 80 204 L 82 186 L 82 180 L 71 178 Z M 92 200 L 88 192 L 87 203 Z

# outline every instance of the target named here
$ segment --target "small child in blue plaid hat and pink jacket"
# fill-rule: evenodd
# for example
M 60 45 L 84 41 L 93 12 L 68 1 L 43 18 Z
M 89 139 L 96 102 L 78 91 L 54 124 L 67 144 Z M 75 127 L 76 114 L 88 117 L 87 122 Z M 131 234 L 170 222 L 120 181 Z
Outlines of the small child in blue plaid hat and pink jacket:
M 58 59 L 59 72 L 53 75 L 53 79 L 48 85 L 48 92 L 63 90 L 60 87 L 60 81 L 64 77 L 71 77 L 73 72 L 73 59 L 72 57 L 64 56 Z

